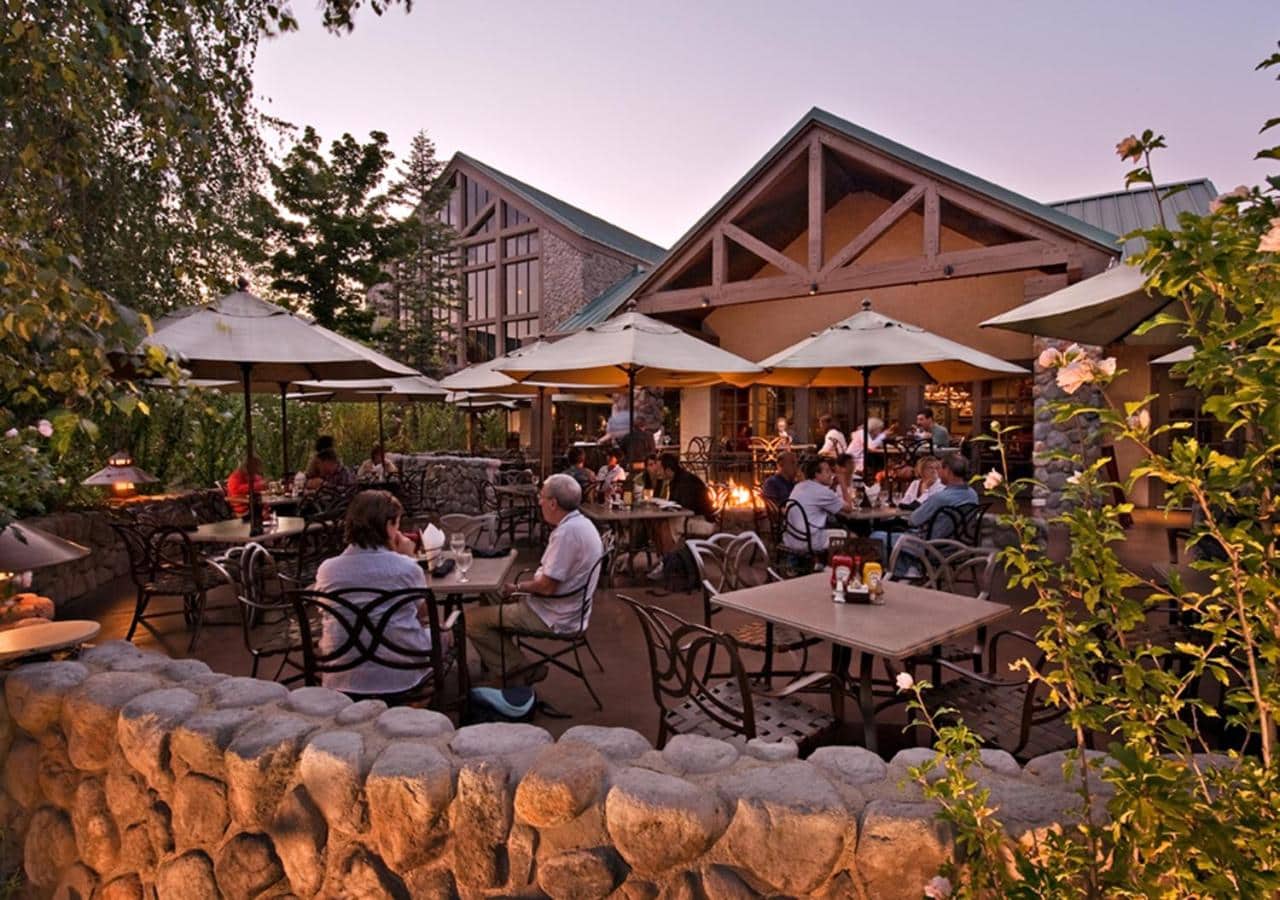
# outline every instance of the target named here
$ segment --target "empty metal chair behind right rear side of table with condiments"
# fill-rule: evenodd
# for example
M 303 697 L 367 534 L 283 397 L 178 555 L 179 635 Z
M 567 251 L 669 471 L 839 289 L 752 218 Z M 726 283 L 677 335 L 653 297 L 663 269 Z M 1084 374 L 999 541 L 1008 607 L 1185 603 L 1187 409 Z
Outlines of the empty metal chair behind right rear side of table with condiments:
M 922 588 L 941 590 L 947 594 L 965 594 L 986 600 L 991 597 L 991 580 L 996 571 L 995 548 L 979 548 L 961 544 L 959 540 L 922 540 L 905 534 L 893 544 L 890 554 L 888 571 L 897 571 L 899 561 L 906 556 L 919 566 L 920 576 L 909 580 Z M 906 661 L 908 667 L 931 666 L 934 684 L 941 677 L 938 662 L 966 662 L 974 672 L 983 671 L 983 648 L 987 644 L 987 627 L 978 629 L 973 644 L 938 644 L 928 654 Z

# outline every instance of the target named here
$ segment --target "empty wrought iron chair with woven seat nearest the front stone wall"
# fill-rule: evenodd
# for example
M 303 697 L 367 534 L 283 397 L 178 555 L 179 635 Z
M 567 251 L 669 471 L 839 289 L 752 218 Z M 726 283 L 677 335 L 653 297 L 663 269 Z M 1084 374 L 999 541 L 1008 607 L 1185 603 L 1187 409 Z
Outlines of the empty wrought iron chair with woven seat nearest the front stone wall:
M 829 714 L 791 696 L 828 675 L 810 676 L 777 694 L 755 691 L 731 635 L 622 594 L 618 599 L 635 611 L 644 631 L 659 748 L 671 735 L 694 734 L 740 741 L 790 737 L 809 750 L 835 727 Z

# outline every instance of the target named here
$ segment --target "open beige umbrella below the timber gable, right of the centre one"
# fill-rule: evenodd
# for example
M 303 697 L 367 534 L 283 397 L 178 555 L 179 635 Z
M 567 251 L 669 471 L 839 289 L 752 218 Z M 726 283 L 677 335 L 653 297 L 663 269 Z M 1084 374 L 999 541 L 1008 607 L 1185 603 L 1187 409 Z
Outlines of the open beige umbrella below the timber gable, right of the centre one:
M 948 384 L 1028 374 L 997 356 L 872 312 L 870 300 L 863 301 L 861 312 L 760 360 L 760 365 L 769 370 L 756 379 L 760 384 L 844 387 L 858 371 L 864 390 L 873 385 Z M 863 416 L 863 447 L 869 446 Z

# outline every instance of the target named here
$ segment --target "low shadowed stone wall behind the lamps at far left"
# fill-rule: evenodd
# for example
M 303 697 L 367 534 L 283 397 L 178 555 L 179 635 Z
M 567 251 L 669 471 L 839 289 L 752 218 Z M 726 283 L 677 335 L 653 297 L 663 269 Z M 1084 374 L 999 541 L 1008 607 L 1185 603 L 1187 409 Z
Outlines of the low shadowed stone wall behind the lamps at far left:
M 206 493 L 216 492 L 192 492 L 179 497 L 165 495 L 157 501 L 137 501 L 131 507 L 137 511 L 138 507 L 146 506 L 155 508 L 161 515 L 166 510 L 186 513 L 191 510 L 192 501 Z M 124 544 L 109 525 L 111 516 L 110 510 L 70 510 L 24 518 L 23 522 L 27 525 L 83 544 L 92 550 L 83 559 L 36 570 L 32 590 L 51 597 L 59 606 L 65 606 L 92 594 L 104 584 L 110 584 L 127 575 L 129 557 Z

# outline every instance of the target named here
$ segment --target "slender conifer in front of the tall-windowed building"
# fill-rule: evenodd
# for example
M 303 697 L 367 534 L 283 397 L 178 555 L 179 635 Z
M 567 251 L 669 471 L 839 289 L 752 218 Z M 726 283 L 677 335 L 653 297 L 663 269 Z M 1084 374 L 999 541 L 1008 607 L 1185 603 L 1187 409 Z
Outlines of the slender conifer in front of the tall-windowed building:
M 379 297 L 390 328 L 383 342 L 396 358 L 422 371 L 439 371 L 457 335 L 457 280 L 453 275 L 457 233 L 440 219 L 451 184 L 440 178 L 444 163 L 435 143 L 419 132 L 392 187 L 392 196 L 411 211 L 404 221 L 407 250 L 396 260 L 392 280 Z

